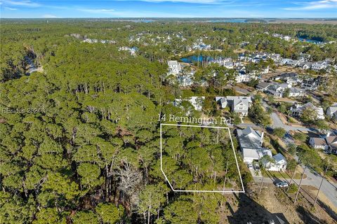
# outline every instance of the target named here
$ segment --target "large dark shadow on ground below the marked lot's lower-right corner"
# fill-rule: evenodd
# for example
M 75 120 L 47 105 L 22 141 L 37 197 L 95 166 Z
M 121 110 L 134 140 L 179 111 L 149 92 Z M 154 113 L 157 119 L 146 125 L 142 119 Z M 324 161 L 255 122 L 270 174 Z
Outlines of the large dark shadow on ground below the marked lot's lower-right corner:
M 230 224 L 269 224 L 270 221 L 274 221 L 275 224 L 289 224 L 283 214 L 272 214 L 246 194 L 234 193 L 234 196 L 239 200 L 237 211 L 233 211 L 229 203 L 226 204 L 231 212 L 231 216 L 227 216 Z

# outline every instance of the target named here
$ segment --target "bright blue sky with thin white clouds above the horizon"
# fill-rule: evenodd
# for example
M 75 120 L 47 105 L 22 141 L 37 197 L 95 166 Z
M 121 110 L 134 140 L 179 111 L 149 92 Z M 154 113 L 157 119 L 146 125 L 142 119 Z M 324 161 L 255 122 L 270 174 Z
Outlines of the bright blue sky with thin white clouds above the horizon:
M 337 0 L 0 0 L 1 18 L 337 18 Z

